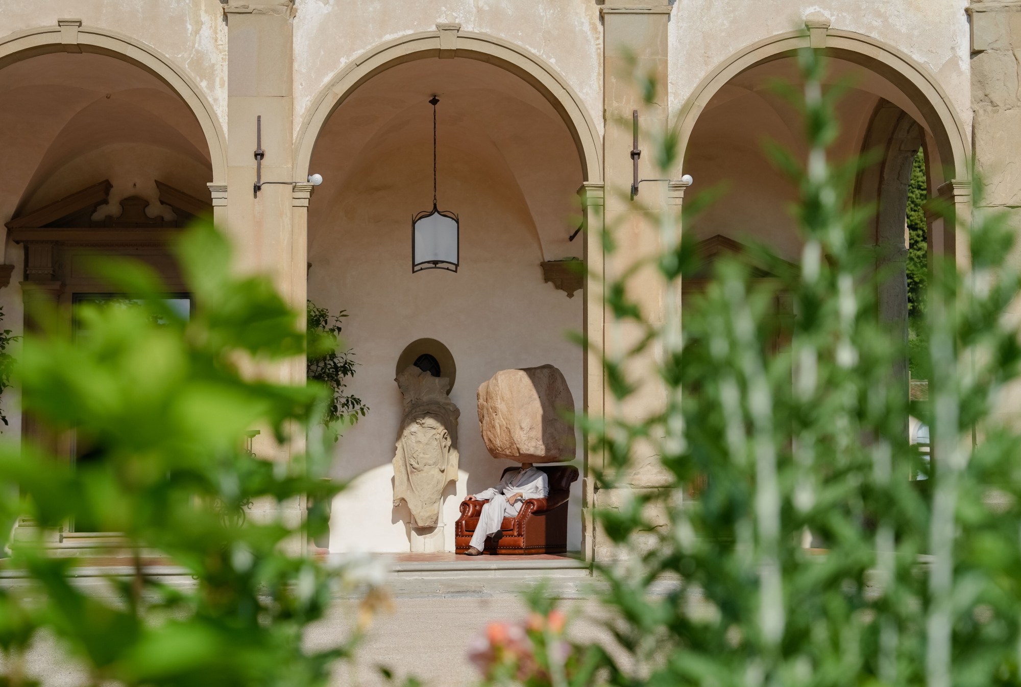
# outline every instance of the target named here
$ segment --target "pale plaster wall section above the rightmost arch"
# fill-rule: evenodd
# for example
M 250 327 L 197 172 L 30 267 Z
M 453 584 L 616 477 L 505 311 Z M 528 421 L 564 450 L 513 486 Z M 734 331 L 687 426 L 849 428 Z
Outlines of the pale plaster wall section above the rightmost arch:
M 822 12 L 853 31 L 907 53 L 936 75 L 971 127 L 968 0 L 685 0 L 670 20 L 670 103 L 676 112 L 695 86 L 742 48 L 805 28 Z

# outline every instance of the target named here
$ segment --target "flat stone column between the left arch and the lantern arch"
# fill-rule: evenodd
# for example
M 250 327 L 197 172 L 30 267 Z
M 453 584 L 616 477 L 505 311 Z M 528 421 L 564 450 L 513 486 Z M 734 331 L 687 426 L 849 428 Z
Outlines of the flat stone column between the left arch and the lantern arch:
M 226 219 L 232 237 L 236 267 L 242 272 L 271 276 L 285 297 L 304 312 L 305 267 L 295 271 L 293 220 L 304 217 L 307 192 L 295 190 L 293 176 L 292 18 L 293 0 L 244 0 L 224 5 L 228 31 L 227 84 L 227 188 L 210 191 L 220 199 L 213 213 Z M 261 118 L 261 141 L 256 122 Z M 256 179 L 255 149 L 264 151 L 261 181 Z M 265 182 L 287 182 L 271 183 Z M 302 197 L 302 195 L 304 197 Z M 226 218 L 224 217 L 224 211 Z M 297 242 L 304 253 L 304 235 Z M 297 282 L 300 281 L 300 284 Z M 301 302 L 295 302 L 299 296 Z M 254 374 L 275 382 L 304 383 L 304 361 L 295 359 L 280 365 L 260 367 Z M 253 427 L 257 428 L 257 427 Z M 262 431 L 253 442 L 259 456 L 289 460 L 302 450 L 303 438 L 278 445 L 273 432 Z M 282 516 L 295 523 L 304 517 L 304 499 L 278 508 L 257 503 L 253 514 L 260 518 Z M 283 512 L 281 512 L 281 510 Z M 303 542 L 289 543 L 295 551 Z

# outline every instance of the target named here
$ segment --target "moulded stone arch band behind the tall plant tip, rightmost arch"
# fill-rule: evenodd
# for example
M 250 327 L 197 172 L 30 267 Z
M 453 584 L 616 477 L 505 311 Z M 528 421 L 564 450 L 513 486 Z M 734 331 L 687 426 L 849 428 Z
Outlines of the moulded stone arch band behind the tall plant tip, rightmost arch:
M 931 165 L 934 185 L 970 178 L 968 136 L 954 103 L 933 75 L 909 55 L 873 38 L 849 31 L 813 27 L 778 34 L 738 50 L 706 76 L 682 105 L 677 120 L 680 159 L 695 122 L 716 93 L 735 76 L 757 64 L 793 55 L 808 47 L 856 63 L 889 81 L 917 107 L 931 132 L 939 165 Z M 825 32 L 817 36 L 817 32 Z

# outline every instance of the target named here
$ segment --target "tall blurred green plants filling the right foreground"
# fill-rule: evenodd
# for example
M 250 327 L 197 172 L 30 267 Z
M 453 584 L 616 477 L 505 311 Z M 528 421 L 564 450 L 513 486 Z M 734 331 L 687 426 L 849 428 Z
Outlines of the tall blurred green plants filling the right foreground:
M 848 210 L 863 163 L 828 158 L 839 89 L 824 87 L 819 52 L 797 60 L 804 83 L 784 95 L 809 152 L 769 146 L 799 194 L 796 269 L 778 264 L 774 287 L 718 261 L 704 291 L 685 295 L 682 329 L 681 280 L 700 261 L 666 205 L 663 253 L 644 264 L 659 273 L 663 321 L 629 297 L 638 267 L 604 284 L 606 340 L 621 323 L 639 333 L 601 352 L 611 410 L 585 418 L 613 637 L 591 654 L 602 662 L 586 684 L 1021 684 L 1021 437 L 998 414 L 1021 364 L 1004 317 L 1019 292 L 1005 263 L 1014 234 L 978 210 L 976 184 L 963 229 L 970 272 L 933 260 L 917 313 L 931 370 L 930 403 L 918 408 L 932 433 L 923 470 L 908 441 L 907 351 L 878 322 L 866 216 Z M 603 244 L 609 263 L 612 237 Z M 625 405 L 643 388 L 645 361 L 662 402 Z M 633 489 L 649 455 L 664 488 Z M 553 670 L 489 684 L 512 682 L 569 684 Z

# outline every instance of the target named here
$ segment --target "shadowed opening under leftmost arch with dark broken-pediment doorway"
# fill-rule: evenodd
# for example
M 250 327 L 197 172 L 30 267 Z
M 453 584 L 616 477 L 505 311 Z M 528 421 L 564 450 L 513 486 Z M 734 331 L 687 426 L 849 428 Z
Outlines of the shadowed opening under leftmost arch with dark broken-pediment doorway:
M 89 269 L 97 256 L 148 263 L 166 297 L 187 309 L 166 242 L 211 211 L 206 184 L 218 164 L 192 105 L 153 70 L 108 49 L 36 50 L 0 63 L 4 263 L 20 284 L 0 291 L 4 325 L 30 324 L 33 299 L 67 306 L 74 326 L 75 304 L 121 295 Z M 69 460 L 88 459 L 87 438 L 51 437 L 31 418 L 20 425 Z M 69 524 L 61 545 L 94 535 L 88 523 Z

